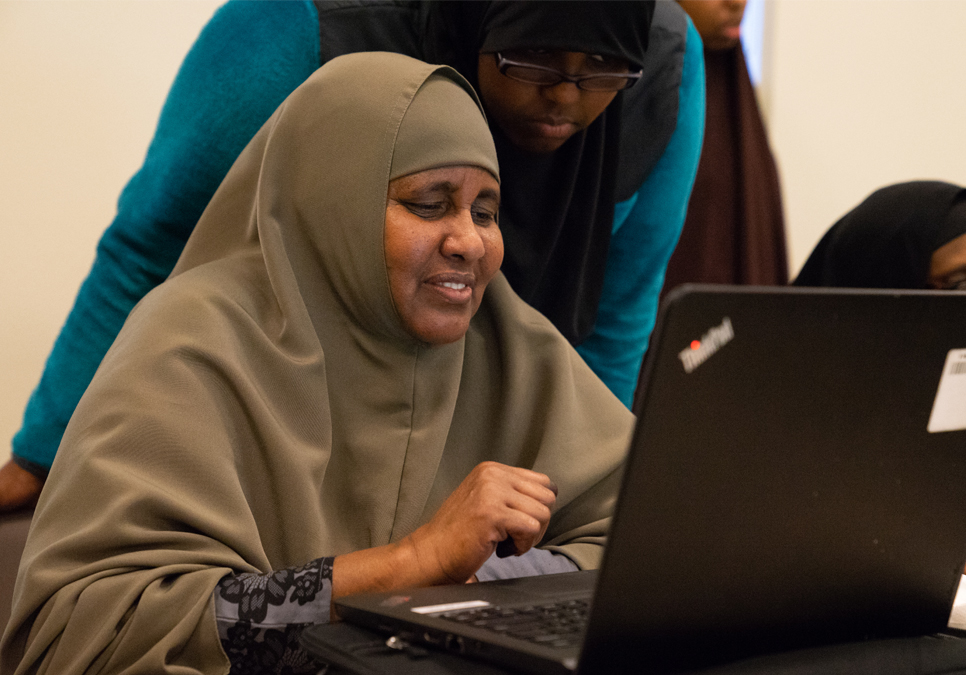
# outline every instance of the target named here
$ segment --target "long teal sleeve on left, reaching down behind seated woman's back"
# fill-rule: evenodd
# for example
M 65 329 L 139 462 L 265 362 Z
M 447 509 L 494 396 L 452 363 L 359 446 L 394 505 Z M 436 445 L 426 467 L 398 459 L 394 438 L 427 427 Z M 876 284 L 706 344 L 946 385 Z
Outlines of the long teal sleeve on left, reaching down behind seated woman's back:
M 13 439 L 18 464 L 35 473 L 50 467 L 131 308 L 168 276 L 235 158 L 318 66 L 311 2 L 232 1 L 205 26 L 27 403 Z

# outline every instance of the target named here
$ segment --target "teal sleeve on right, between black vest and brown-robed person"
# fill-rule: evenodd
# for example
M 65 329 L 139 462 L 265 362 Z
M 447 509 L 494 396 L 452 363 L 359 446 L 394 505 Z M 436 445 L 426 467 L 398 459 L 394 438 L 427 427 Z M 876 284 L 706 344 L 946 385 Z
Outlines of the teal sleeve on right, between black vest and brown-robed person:
M 577 348 L 628 407 L 684 226 L 704 137 L 704 50 L 688 19 L 674 134 L 640 189 L 617 205 L 594 331 Z

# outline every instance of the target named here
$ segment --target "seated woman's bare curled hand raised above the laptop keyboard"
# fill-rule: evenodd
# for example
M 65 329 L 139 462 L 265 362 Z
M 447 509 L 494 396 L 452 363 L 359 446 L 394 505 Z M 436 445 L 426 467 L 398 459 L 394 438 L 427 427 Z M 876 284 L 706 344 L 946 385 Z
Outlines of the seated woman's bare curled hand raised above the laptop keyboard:
M 557 487 L 542 473 L 483 462 L 406 539 L 435 583 L 463 583 L 506 541 L 521 555 L 547 530 Z

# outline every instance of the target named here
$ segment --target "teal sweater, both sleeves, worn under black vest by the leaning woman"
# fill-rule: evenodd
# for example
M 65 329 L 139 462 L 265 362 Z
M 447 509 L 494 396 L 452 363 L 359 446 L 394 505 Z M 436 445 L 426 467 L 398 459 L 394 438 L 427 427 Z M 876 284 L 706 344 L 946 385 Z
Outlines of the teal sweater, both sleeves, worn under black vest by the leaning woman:
M 311 2 L 229 2 L 191 48 L 144 165 L 47 359 L 13 439 L 14 459 L 43 474 L 77 402 L 131 308 L 164 281 L 235 158 L 320 65 Z M 688 29 L 677 129 L 658 165 L 617 205 L 594 332 L 578 351 L 630 405 L 664 270 L 684 223 L 704 128 L 704 61 Z

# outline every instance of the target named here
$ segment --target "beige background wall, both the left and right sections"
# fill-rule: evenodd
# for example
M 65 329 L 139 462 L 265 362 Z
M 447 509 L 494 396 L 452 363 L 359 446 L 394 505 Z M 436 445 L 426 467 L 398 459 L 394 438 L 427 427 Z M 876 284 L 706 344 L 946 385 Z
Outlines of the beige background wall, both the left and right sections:
M 0 460 L 217 0 L 0 0 Z M 966 184 L 966 2 L 767 0 L 761 97 L 797 270 L 877 186 Z

